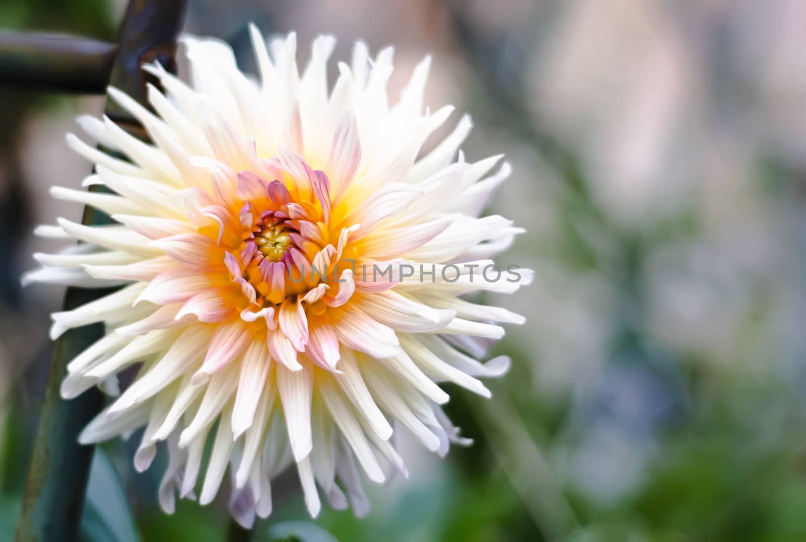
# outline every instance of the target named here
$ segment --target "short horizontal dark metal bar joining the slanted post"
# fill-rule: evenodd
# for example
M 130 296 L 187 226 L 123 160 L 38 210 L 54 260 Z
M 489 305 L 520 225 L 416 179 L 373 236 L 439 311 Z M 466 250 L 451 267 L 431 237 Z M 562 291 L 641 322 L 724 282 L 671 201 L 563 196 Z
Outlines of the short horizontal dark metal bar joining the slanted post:
M 114 43 L 73 35 L 0 31 L 0 85 L 102 94 L 115 50 Z

